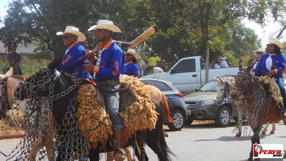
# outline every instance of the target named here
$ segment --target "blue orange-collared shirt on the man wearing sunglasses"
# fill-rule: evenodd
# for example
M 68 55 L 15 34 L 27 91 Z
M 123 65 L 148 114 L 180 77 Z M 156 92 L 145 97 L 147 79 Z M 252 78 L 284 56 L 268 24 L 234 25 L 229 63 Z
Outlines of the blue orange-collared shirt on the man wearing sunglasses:
M 87 61 L 87 59 L 83 59 L 81 61 L 78 60 L 85 55 L 86 51 L 84 50 L 83 46 L 78 43 L 78 41 L 75 41 L 67 49 L 66 55 L 63 57 L 63 60 L 60 65 L 57 66 L 57 69 L 72 75 L 81 66 L 83 66 L 83 64 L 86 64 L 84 61 Z M 80 71 L 76 75 L 86 75 L 86 77 L 89 78 L 89 73 L 84 73 L 84 68 L 80 69 Z

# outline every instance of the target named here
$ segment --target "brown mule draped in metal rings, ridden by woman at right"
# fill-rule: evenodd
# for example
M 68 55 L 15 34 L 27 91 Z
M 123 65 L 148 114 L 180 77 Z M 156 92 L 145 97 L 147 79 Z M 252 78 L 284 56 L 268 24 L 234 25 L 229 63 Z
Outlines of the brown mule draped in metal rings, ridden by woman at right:
M 246 118 L 253 131 L 248 161 L 253 160 L 253 145 L 260 144 L 259 133 L 264 122 L 272 123 L 283 120 L 280 114 L 282 108 L 275 104 L 265 85 L 259 83 L 251 72 L 253 65 L 254 63 L 243 68 L 243 62 L 239 61 L 239 72 L 234 77 L 235 83 L 230 94 L 233 100 L 238 100 L 240 97 L 245 99 Z M 286 125 L 285 120 L 283 123 Z

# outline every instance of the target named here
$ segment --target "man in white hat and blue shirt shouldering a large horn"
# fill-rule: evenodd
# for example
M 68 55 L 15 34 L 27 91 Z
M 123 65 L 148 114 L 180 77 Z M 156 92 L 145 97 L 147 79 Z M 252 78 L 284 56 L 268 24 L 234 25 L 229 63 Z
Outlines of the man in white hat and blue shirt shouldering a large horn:
M 107 91 L 114 91 L 120 88 L 119 76 L 124 67 L 125 56 L 122 49 L 116 45 L 111 39 L 112 32 L 121 32 L 121 30 L 113 25 L 113 22 L 108 20 L 99 20 L 97 25 L 88 29 L 96 30 L 97 41 L 102 43 L 98 58 L 91 54 L 91 50 L 86 49 L 86 58 L 92 62 L 83 65 L 85 72 L 94 72 L 94 80 L 100 89 Z M 118 148 L 121 143 L 121 132 L 123 125 L 119 110 L 119 92 L 107 93 L 103 92 L 105 96 L 106 111 L 110 115 L 112 122 L 112 131 L 114 140 Z M 124 160 L 121 151 L 116 148 L 114 151 L 114 159 L 116 161 Z

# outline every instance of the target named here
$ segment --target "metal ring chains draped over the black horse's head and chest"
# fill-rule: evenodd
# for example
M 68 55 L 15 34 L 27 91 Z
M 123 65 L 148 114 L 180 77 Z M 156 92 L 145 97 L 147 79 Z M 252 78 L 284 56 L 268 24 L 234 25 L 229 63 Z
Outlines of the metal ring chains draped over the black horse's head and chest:
M 47 72 L 48 76 L 43 77 L 42 81 L 38 81 L 38 83 L 35 85 L 35 73 L 39 72 L 39 70 L 41 70 L 41 72 Z M 78 80 L 74 83 L 74 85 L 72 85 L 71 87 L 69 87 L 68 90 L 66 90 L 65 92 L 62 92 L 60 94 L 57 95 L 53 95 L 54 92 L 54 86 L 55 84 L 50 83 L 48 84 L 52 79 L 56 79 L 57 75 L 55 75 L 55 72 L 50 71 L 47 67 L 41 68 L 37 70 L 36 72 L 34 72 L 34 74 L 31 76 L 32 80 L 30 82 L 26 82 L 30 85 L 29 88 L 29 92 L 30 95 L 29 97 L 29 101 L 31 104 L 26 103 L 25 104 L 25 113 L 24 113 L 24 118 L 26 118 L 28 121 L 28 125 L 23 125 L 22 127 L 25 129 L 25 135 L 24 138 L 21 139 L 20 143 L 16 146 L 16 148 L 13 149 L 13 151 L 9 154 L 8 157 L 12 158 L 14 156 L 16 156 L 17 154 L 21 154 L 17 157 L 17 160 L 28 160 L 28 154 L 31 151 L 32 146 L 35 143 L 35 140 L 37 138 L 37 134 L 40 133 L 42 136 L 42 148 L 40 149 L 40 153 L 38 154 L 39 160 L 44 160 L 44 157 L 46 156 L 45 154 L 45 149 L 44 149 L 44 145 L 46 143 L 46 132 L 49 132 L 49 134 L 53 135 L 53 131 L 47 131 L 47 126 L 49 126 L 49 129 L 54 129 L 54 127 L 52 127 L 52 122 L 51 122 L 51 117 L 52 117 L 52 101 L 56 100 L 62 96 L 65 96 L 67 94 L 69 94 L 69 92 L 71 92 L 73 89 L 75 89 L 79 83 L 81 82 L 81 80 Z M 25 85 L 27 85 L 25 83 Z M 49 87 L 47 87 L 47 85 L 49 85 Z M 22 85 L 20 86 L 24 86 L 24 83 L 22 83 Z M 49 89 L 49 94 L 48 97 L 41 97 L 38 96 L 38 91 L 36 90 L 34 91 L 33 89 Z M 25 88 L 26 89 L 26 88 Z M 28 89 L 26 89 L 28 90 Z M 18 89 L 19 92 L 19 89 Z M 17 98 L 17 90 L 15 89 L 15 97 Z M 89 143 L 87 143 L 85 141 L 85 139 L 82 137 L 82 135 L 80 134 L 80 131 L 77 128 L 77 118 L 76 118 L 76 111 L 78 108 L 78 104 L 76 101 L 76 96 L 74 97 L 75 99 L 71 100 L 71 105 L 68 107 L 69 112 L 66 113 L 66 119 L 63 120 L 63 123 L 60 125 L 56 126 L 57 129 L 57 134 L 53 135 L 54 138 L 56 138 L 54 146 L 52 146 L 52 157 L 51 160 L 55 160 L 56 157 L 58 156 L 58 148 L 62 145 L 65 146 L 65 150 L 63 151 L 63 153 L 68 153 L 66 155 L 64 155 L 65 157 L 63 158 L 62 156 L 58 156 L 61 157 L 62 160 L 70 160 L 71 158 L 75 158 L 77 160 L 86 160 L 87 156 L 88 156 L 88 151 L 90 149 L 90 145 Z M 15 101 L 16 102 L 16 101 Z M 15 103 L 13 101 L 13 103 Z M 17 125 L 17 127 L 21 127 L 21 125 L 18 123 L 18 118 L 19 118 L 19 108 L 17 108 L 19 104 L 16 104 L 16 114 L 14 114 L 14 112 L 12 113 L 12 117 L 14 117 L 14 123 Z M 30 114 L 33 109 L 37 109 L 37 108 L 41 108 L 41 115 L 38 114 L 38 116 L 36 117 L 36 115 L 34 114 Z M 50 119 L 49 122 L 48 118 Z M 35 126 L 33 123 L 34 122 L 38 122 L 39 123 L 39 128 L 38 126 Z M 32 130 L 31 130 L 32 129 Z M 37 130 L 38 129 L 38 130 Z M 59 131 L 62 130 L 63 134 L 67 134 L 67 137 L 62 139 L 61 136 L 59 136 Z M 38 132 L 38 133 L 37 133 Z M 69 136 L 70 135 L 70 136 Z M 32 136 L 32 137 L 30 137 Z M 64 145 L 63 145 L 64 144 Z M 12 154 L 21 146 L 21 148 L 12 156 Z M 12 157 L 11 157 L 12 156 Z

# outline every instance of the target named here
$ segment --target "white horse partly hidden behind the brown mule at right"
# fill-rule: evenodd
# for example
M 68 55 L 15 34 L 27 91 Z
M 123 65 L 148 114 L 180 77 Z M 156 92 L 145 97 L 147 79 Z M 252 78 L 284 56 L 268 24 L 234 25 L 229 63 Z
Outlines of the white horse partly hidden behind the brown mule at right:
M 221 104 L 223 103 L 223 100 L 227 97 L 227 95 L 230 95 L 230 93 L 232 92 L 232 87 L 234 85 L 234 78 L 226 78 L 226 79 L 217 79 L 215 78 L 215 80 L 217 81 L 217 104 Z M 243 101 L 242 100 L 234 100 L 234 105 L 238 110 L 238 131 L 235 135 L 235 137 L 240 137 L 241 136 L 241 132 L 242 132 L 242 123 L 243 123 Z M 268 129 L 270 123 L 266 123 L 261 135 L 265 135 L 266 131 Z M 274 134 L 275 131 L 275 123 L 272 123 L 272 130 L 270 131 L 270 134 Z

